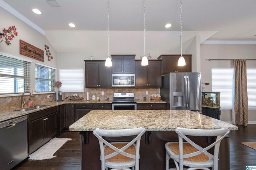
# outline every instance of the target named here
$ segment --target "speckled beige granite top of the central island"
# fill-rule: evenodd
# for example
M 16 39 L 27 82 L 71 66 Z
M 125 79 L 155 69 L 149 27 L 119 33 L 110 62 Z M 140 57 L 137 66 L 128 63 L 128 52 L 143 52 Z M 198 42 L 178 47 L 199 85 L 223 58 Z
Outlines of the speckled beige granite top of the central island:
M 194 129 L 238 127 L 190 110 L 92 110 L 69 126 L 70 131 L 127 129 L 144 127 L 148 131 L 172 131 L 177 127 Z

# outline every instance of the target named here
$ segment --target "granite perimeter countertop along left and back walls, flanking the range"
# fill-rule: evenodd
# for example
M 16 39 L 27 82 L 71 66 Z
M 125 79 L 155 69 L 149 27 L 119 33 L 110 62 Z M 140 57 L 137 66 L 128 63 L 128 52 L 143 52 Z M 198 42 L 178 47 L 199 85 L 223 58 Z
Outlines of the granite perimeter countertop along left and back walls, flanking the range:
M 45 107 L 42 107 L 42 108 L 39 108 L 39 109 L 34 109 L 34 110 L 28 110 L 28 111 L 25 111 L 25 112 L 22 112 L 20 111 L 21 108 L 17 108 L 15 110 L 4 110 L 4 111 L 0 111 L 0 122 L 2 121 L 5 121 L 5 120 L 9 120 L 9 119 L 12 119 L 12 118 L 17 118 L 17 117 L 20 117 L 20 116 L 24 116 L 24 115 L 27 115 L 27 114 L 30 114 L 30 113 L 33 113 L 33 112 L 38 112 L 40 110 L 44 110 L 44 109 L 47 109 L 47 108 L 52 108 L 52 107 L 55 107 L 55 106 L 59 106 L 59 105 L 62 105 L 62 104 L 96 104 L 96 103 L 99 103 L 99 104 L 111 104 L 113 100 L 64 100 L 62 102 L 47 102 L 47 103 L 42 103 L 42 104 L 38 104 L 38 105 L 35 105 L 35 106 L 39 106 L 39 105 L 47 105 Z M 166 103 L 164 101 L 153 101 L 153 100 L 136 100 L 137 103 Z M 33 105 L 34 106 L 34 105 Z M 26 107 L 24 107 L 26 108 Z

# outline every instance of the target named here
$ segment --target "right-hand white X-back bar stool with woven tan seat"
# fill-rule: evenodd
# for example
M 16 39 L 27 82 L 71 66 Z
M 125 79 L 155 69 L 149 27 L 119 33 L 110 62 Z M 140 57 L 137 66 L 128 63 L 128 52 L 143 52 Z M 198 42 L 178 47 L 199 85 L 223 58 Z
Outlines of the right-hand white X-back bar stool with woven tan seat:
M 228 129 L 187 129 L 177 128 L 175 132 L 178 134 L 179 142 L 167 142 L 166 148 L 166 170 L 218 170 L 218 154 L 221 140 L 229 134 Z M 202 148 L 194 143 L 187 136 L 217 136 L 216 141 L 206 148 Z M 183 142 L 185 140 L 186 142 Z M 214 147 L 214 154 L 210 154 L 208 150 Z M 172 158 L 176 168 L 169 169 L 169 159 Z M 189 167 L 183 168 L 183 166 Z

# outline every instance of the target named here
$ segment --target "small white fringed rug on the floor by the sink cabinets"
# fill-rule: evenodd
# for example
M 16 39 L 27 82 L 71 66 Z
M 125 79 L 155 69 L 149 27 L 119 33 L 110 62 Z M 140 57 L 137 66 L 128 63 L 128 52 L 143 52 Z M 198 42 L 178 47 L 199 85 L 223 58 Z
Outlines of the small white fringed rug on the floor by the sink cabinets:
M 29 160 L 44 160 L 51 159 L 56 156 L 53 154 L 60 149 L 62 145 L 64 145 L 70 138 L 53 138 L 41 148 L 30 154 L 28 157 Z

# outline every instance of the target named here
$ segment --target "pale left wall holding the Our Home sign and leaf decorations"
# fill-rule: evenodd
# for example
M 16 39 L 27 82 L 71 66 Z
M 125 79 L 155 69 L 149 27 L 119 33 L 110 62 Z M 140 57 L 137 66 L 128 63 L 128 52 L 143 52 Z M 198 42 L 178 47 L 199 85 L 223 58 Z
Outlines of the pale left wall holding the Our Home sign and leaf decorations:
M 6 28 L 8 29 L 10 26 L 15 26 L 17 28 L 16 32 L 18 32 L 18 36 L 15 36 L 13 40 L 11 40 L 11 44 L 8 46 L 5 42 L 0 43 L 0 52 L 4 54 L 8 54 L 11 56 L 16 56 L 19 58 L 24 58 L 32 61 L 32 78 L 31 78 L 31 90 L 35 90 L 35 75 L 33 74 L 33 70 L 35 70 L 35 62 L 39 62 L 45 64 L 47 66 L 57 67 L 57 53 L 55 49 L 52 47 L 50 42 L 46 39 L 44 35 L 36 31 L 34 28 L 28 26 L 26 23 L 22 22 L 20 19 L 16 18 L 8 11 L 4 10 L 0 7 L 0 29 Z M 44 62 L 39 60 L 35 60 L 33 58 L 23 56 L 20 54 L 20 40 L 27 42 L 37 48 L 40 48 L 44 51 Z M 52 62 L 48 61 L 48 57 L 46 56 L 46 52 L 44 50 L 44 45 L 49 46 L 51 56 L 53 56 Z

